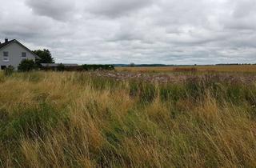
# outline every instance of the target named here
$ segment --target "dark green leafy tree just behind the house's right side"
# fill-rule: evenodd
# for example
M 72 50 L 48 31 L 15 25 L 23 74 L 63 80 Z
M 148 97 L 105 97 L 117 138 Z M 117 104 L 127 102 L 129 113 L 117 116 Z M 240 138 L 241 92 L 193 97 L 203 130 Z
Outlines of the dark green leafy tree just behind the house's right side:
M 40 59 L 36 60 L 38 66 L 42 63 L 54 63 L 54 58 L 50 54 L 50 50 L 34 50 L 34 54 L 37 54 Z

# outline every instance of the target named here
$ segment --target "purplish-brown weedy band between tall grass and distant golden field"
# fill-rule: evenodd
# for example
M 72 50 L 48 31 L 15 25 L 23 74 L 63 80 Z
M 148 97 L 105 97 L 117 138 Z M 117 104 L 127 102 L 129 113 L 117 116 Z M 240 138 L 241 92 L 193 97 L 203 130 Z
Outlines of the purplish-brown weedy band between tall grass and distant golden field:
M 150 74 L 150 73 L 132 73 L 132 72 L 114 72 L 114 71 L 98 71 L 90 72 L 91 75 L 114 78 L 117 81 L 126 80 L 142 80 L 145 82 L 158 83 L 180 83 L 194 80 L 202 80 L 205 82 L 242 82 L 254 83 L 256 82 L 256 74 Z

